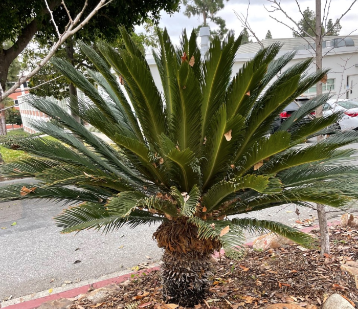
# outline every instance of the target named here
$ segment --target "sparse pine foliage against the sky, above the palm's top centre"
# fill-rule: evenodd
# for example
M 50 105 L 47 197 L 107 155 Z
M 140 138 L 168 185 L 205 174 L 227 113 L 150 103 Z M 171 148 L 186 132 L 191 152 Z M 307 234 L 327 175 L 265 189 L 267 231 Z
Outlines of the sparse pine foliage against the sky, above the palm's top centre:
M 209 21 L 218 26 L 216 30 L 210 29 L 212 36 L 222 38 L 228 32 L 225 20 L 217 16 L 218 12 L 225 7 L 223 0 L 183 0 L 183 4 L 186 6 L 184 15 L 203 16 L 203 24 L 197 27 L 197 32 L 202 27 L 209 27 Z

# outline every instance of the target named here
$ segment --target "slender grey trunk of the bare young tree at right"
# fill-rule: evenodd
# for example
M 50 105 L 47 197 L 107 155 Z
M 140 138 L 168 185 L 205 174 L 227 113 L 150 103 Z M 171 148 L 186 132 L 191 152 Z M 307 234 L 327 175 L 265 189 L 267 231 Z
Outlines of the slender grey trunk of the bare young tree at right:
M 322 70 L 322 24 L 321 24 L 321 0 L 316 0 L 316 71 Z M 317 83 L 317 96 L 322 95 L 322 81 Z M 316 109 L 316 117 L 323 117 L 323 106 Z M 324 139 L 323 135 L 317 137 L 317 141 Z M 329 254 L 329 232 L 327 226 L 327 214 L 324 205 L 317 204 L 318 222 L 321 234 L 321 256 Z

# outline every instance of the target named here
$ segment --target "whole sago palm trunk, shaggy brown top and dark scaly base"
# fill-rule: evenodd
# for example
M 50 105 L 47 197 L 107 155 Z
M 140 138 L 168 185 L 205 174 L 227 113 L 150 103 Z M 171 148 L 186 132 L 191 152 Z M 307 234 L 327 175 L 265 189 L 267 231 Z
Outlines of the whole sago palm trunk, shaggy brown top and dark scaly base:
M 204 299 L 209 292 L 211 255 L 220 250 L 220 241 L 199 239 L 197 228 L 183 218 L 163 223 L 153 238 L 164 249 L 163 299 L 184 307 Z

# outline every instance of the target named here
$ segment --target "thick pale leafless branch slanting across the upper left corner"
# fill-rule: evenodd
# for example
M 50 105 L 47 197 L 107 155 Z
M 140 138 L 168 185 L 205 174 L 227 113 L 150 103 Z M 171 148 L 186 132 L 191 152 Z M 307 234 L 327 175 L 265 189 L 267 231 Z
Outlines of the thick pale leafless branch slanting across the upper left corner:
M 84 6 L 80 13 L 77 14 L 76 18 L 73 20 L 73 24 L 69 23 L 68 27 L 66 27 L 65 31 L 60 35 L 59 39 L 55 44 L 52 46 L 49 54 L 44 57 L 41 62 L 33 69 L 30 73 L 25 76 L 21 76 L 17 82 L 6 92 L 2 89 L 0 85 L 0 102 L 2 102 L 5 98 L 7 98 L 10 94 L 14 93 L 16 89 L 25 81 L 29 80 L 31 77 L 36 75 L 41 68 L 51 59 L 51 57 L 56 53 L 57 49 L 61 46 L 61 44 L 74 35 L 77 31 L 79 31 L 84 25 L 88 23 L 88 21 L 105 5 L 109 4 L 113 0 L 100 0 L 97 6 L 90 12 L 81 22 L 80 19 L 83 15 L 83 12 L 87 6 L 87 0 L 85 0 Z M 78 24 L 78 25 L 77 25 Z M 77 25 L 77 26 L 76 26 Z

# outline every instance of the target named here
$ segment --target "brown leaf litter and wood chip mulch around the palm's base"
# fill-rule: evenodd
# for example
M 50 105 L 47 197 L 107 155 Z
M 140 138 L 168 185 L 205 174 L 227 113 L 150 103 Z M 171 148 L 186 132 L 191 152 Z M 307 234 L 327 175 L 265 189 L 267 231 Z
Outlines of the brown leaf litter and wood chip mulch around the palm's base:
M 312 231 L 318 234 L 318 231 Z M 303 309 L 320 308 L 334 293 L 358 307 L 354 278 L 341 271 L 341 264 L 358 261 L 358 231 L 330 227 L 331 254 L 297 245 L 269 251 L 248 249 L 241 260 L 221 257 L 215 263 L 210 295 L 195 309 L 260 308 L 273 303 L 294 303 Z M 75 301 L 71 309 L 145 308 L 180 309 L 162 300 L 159 271 L 135 275 L 118 284 L 118 295 L 104 303 Z

